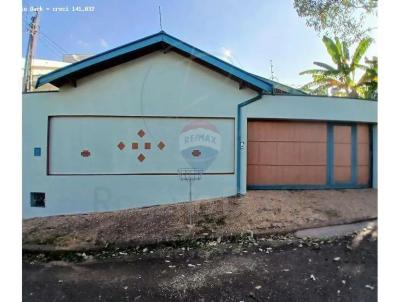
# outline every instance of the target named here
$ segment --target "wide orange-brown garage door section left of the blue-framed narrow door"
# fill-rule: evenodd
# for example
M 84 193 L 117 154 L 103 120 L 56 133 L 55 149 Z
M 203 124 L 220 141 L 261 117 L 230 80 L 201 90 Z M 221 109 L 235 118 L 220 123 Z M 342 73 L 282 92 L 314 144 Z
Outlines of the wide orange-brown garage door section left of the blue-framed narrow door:
M 250 121 L 247 135 L 249 186 L 326 184 L 326 123 Z

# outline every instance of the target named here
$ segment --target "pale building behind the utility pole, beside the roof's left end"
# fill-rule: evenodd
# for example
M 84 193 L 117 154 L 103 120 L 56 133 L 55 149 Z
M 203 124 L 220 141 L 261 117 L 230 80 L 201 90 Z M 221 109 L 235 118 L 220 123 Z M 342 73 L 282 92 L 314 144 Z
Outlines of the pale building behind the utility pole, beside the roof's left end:
M 49 72 L 52 72 L 56 69 L 62 68 L 69 65 L 66 62 L 53 61 L 53 60 L 43 60 L 43 59 L 33 59 L 32 61 L 32 87 L 30 87 L 29 91 L 57 91 L 58 88 L 51 84 L 45 84 L 39 88 L 35 89 L 37 79 Z M 22 75 L 21 78 L 24 78 L 24 69 L 25 69 L 25 58 L 22 58 Z

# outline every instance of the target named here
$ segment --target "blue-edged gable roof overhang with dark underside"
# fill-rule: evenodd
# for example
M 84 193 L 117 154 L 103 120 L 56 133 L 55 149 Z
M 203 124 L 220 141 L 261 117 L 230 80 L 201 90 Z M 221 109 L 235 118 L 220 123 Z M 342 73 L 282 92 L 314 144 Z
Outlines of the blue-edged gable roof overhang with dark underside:
M 244 71 L 161 31 L 45 74 L 37 80 L 36 88 L 47 83 L 57 87 L 74 83 L 82 77 L 125 63 L 156 50 L 175 51 L 259 92 L 273 93 L 273 89 L 277 86 L 276 84 L 279 84 Z M 276 88 L 281 89 L 280 87 Z M 290 93 L 289 91 L 285 92 Z

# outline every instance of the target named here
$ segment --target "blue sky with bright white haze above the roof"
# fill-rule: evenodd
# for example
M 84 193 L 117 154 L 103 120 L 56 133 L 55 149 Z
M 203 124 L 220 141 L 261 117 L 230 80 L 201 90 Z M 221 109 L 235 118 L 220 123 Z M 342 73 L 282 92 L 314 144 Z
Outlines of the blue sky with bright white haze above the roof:
M 309 80 L 299 72 L 331 62 L 293 0 L 23 0 L 22 56 L 31 7 L 43 8 L 35 58 L 61 61 L 63 54 L 97 54 L 159 32 L 159 6 L 168 34 L 267 78 L 272 60 L 283 84 L 299 87 Z M 367 55 L 377 55 L 376 43 Z

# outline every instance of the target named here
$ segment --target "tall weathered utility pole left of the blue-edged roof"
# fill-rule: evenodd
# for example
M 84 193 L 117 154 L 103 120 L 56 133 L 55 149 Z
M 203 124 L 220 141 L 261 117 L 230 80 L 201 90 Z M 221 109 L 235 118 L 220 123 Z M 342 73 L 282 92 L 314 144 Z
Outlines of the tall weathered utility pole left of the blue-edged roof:
M 38 32 L 39 32 L 39 11 L 36 10 L 35 15 L 31 18 L 31 23 L 29 24 L 29 41 L 25 56 L 23 92 L 28 92 L 32 90 L 33 86 L 32 61 L 33 61 L 33 54 L 35 51 L 36 38 Z

